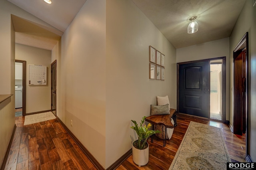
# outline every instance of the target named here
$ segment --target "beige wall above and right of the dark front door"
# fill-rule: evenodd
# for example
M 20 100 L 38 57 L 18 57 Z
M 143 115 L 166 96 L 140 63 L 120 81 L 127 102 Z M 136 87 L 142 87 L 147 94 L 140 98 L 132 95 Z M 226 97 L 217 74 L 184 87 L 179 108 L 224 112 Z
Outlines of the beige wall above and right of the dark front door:
M 226 120 L 230 120 L 230 64 L 229 38 L 177 49 L 177 63 L 226 56 Z

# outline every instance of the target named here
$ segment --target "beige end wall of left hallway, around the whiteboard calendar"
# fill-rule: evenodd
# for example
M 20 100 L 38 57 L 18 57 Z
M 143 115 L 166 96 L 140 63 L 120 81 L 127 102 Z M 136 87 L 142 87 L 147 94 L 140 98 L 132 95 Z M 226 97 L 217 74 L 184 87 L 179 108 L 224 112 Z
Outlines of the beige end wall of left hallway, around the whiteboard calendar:
M 27 61 L 26 65 L 26 113 L 51 109 L 51 51 L 16 43 L 15 59 Z M 28 65 L 47 67 L 47 85 L 28 85 Z

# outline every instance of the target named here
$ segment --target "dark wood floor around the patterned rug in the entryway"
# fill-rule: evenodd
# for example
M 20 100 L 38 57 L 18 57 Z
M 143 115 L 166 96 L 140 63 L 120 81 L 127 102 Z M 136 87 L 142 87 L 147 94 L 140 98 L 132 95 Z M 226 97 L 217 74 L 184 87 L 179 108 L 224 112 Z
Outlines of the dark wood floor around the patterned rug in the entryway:
M 210 126 L 219 127 L 226 139 L 226 146 L 232 162 L 246 162 L 245 160 L 245 135 L 234 135 L 228 125 L 209 119 L 193 117 L 185 114 L 177 114 L 178 126 L 174 128 L 172 138 L 166 141 L 163 147 L 163 141 L 154 138 L 154 142 L 149 144 L 149 162 L 145 166 L 138 167 L 132 161 L 132 155 L 123 162 L 117 170 L 168 170 L 172 160 L 180 146 L 182 138 L 188 128 L 190 121 L 204 123 Z

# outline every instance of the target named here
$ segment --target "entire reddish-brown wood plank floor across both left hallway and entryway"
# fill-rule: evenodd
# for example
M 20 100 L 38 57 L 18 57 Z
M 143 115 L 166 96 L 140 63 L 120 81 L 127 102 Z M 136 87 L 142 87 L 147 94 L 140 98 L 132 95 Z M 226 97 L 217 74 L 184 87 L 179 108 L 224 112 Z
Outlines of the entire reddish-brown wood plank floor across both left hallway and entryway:
M 162 140 L 150 142 L 147 165 L 138 167 L 132 156 L 118 170 L 168 170 L 190 121 L 222 128 L 232 162 L 245 162 L 245 136 L 232 134 L 228 125 L 209 119 L 177 114 L 178 126 L 166 147 Z M 94 170 L 96 167 L 56 120 L 23 125 L 24 117 L 16 117 L 16 132 L 5 166 L 6 170 Z

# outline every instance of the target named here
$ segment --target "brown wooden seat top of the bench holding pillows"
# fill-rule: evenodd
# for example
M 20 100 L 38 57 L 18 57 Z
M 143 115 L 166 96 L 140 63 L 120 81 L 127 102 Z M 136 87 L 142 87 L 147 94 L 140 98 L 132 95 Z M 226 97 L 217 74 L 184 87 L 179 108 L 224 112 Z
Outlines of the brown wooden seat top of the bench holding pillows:
M 174 125 L 172 125 L 172 122 L 171 122 L 171 118 L 174 113 L 176 113 L 176 109 L 170 109 L 170 115 L 152 115 L 152 116 L 146 117 L 145 121 L 153 125 L 162 123 L 167 128 L 174 128 Z

